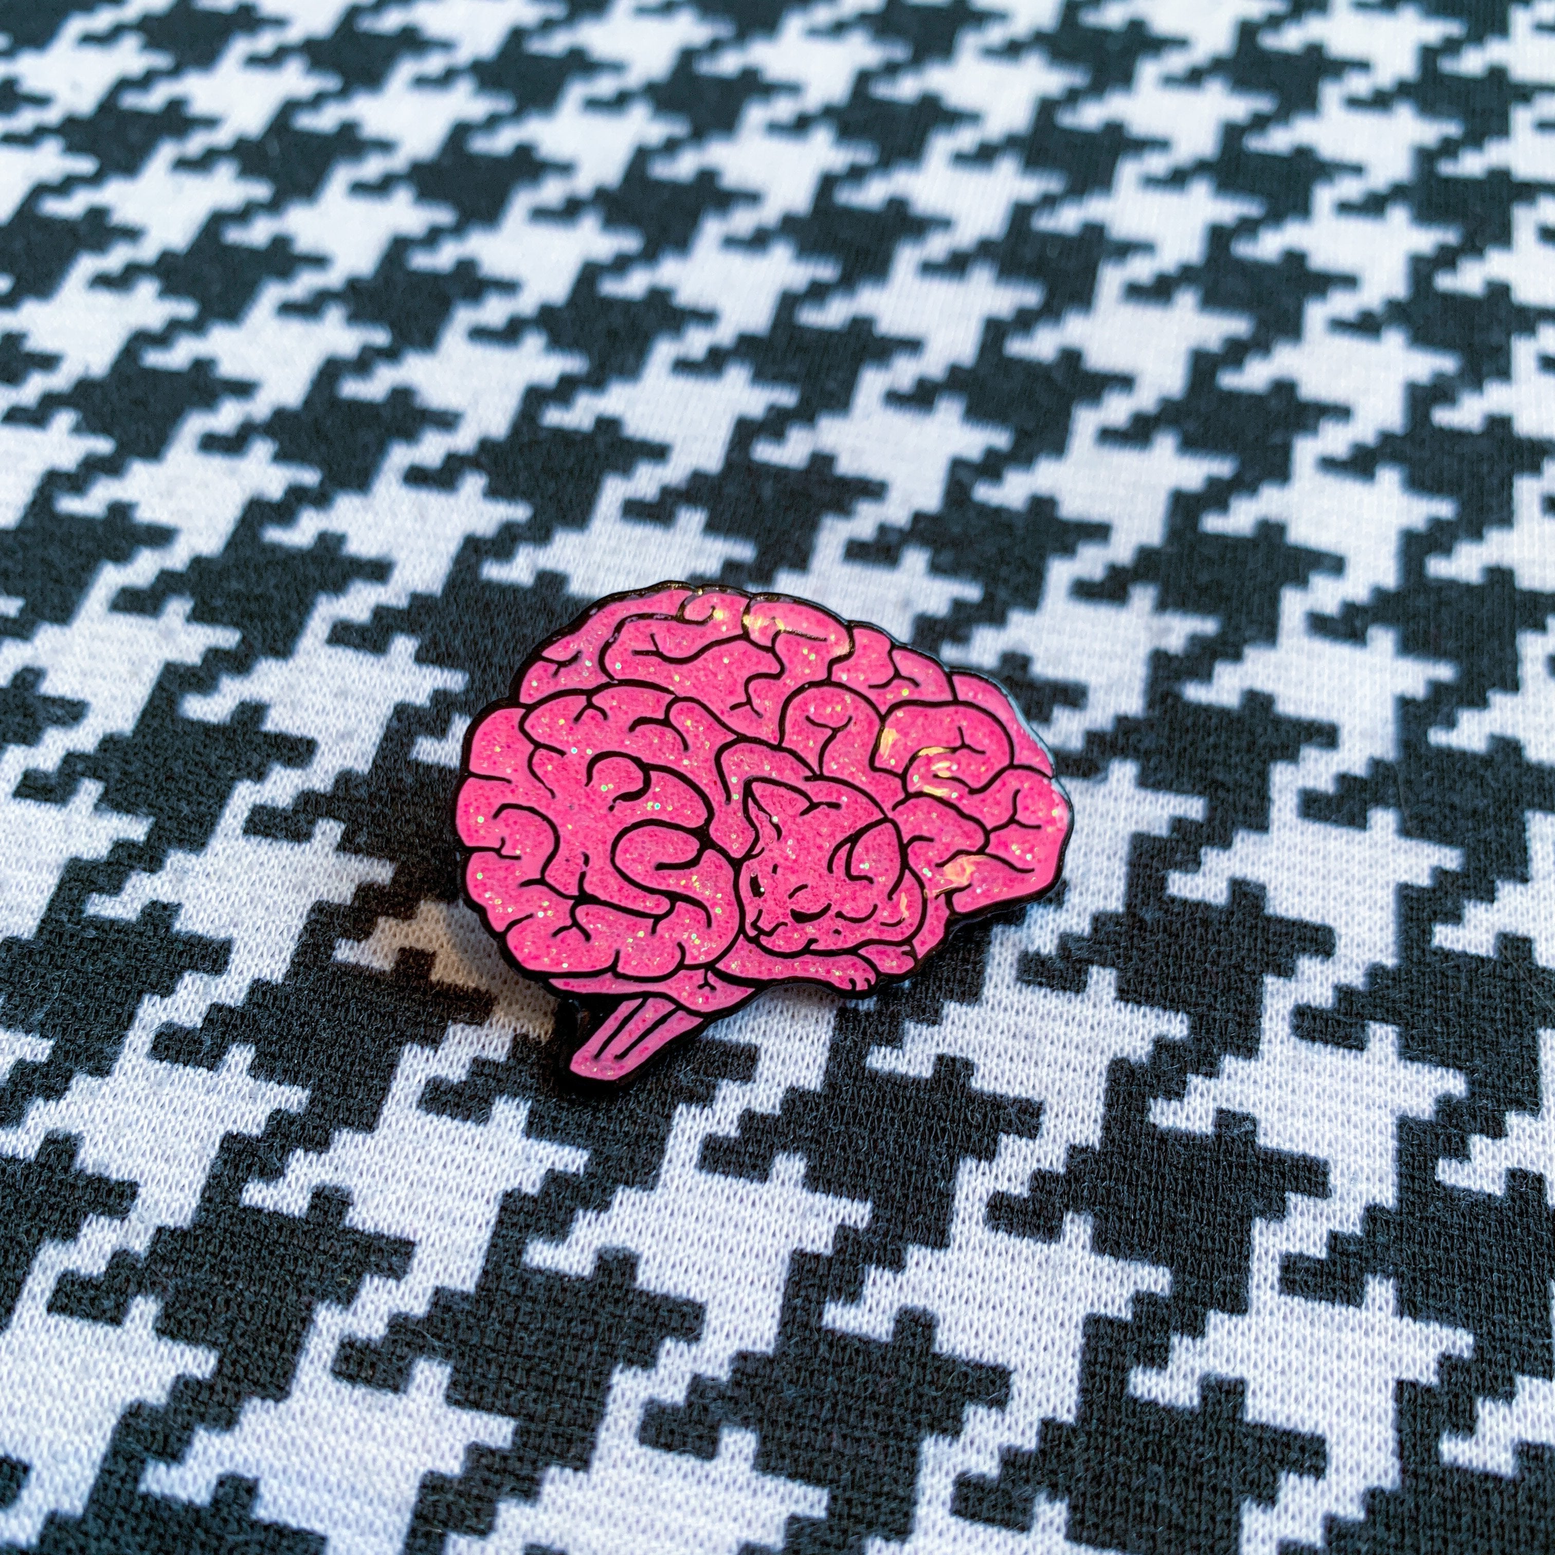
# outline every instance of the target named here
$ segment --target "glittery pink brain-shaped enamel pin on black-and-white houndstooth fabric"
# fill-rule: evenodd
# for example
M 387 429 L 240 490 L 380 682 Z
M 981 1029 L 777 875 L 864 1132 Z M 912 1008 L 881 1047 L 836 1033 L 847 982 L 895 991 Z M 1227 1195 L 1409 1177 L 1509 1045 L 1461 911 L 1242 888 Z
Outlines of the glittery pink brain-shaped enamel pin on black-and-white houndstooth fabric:
M 992 681 L 782 594 L 662 583 L 465 739 L 465 893 L 622 1079 L 779 983 L 866 994 L 1059 877 L 1070 805 Z

